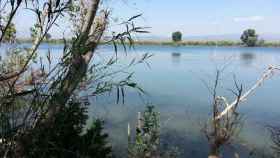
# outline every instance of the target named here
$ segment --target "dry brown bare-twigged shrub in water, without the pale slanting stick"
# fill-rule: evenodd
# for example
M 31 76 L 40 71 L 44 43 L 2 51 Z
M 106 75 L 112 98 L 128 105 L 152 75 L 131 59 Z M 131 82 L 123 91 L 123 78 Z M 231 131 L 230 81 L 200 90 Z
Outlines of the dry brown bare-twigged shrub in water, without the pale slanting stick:
M 220 156 L 220 150 L 223 146 L 230 144 L 233 137 L 236 136 L 241 128 L 241 117 L 236 112 L 236 108 L 239 104 L 240 96 L 243 92 L 242 85 L 238 86 L 235 81 L 236 92 L 232 91 L 238 101 L 236 102 L 234 109 L 231 113 L 227 113 L 221 119 L 215 119 L 220 112 L 229 106 L 229 103 L 225 97 L 217 96 L 217 87 L 219 85 L 220 71 L 217 71 L 215 86 L 213 91 L 213 111 L 212 117 L 205 125 L 203 132 L 209 142 L 210 152 L 209 158 L 218 158 Z

